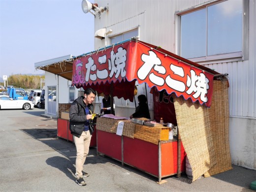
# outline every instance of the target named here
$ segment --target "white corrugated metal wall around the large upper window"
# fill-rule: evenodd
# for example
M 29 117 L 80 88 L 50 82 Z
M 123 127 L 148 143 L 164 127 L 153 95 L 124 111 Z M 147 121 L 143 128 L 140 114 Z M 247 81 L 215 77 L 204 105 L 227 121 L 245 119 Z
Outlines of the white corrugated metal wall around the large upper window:
M 175 13 L 213 1 L 218 0 L 97 0 L 99 6 L 108 6 L 109 11 L 102 13 L 100 19 L 96 16 L 95 31 L 111 29 L 111 37 L 139 28 L 140 40 L 177 54 L 179 36 Z M 108 39 L 108 45 L 109 42 Z M 105 40 L 95 39 L 95 49 L 104 46 Z M 232 162 L 256 169 L 256 0 L 249 0 L 249 46 L 246 51 L 248 60 L 204 65 L 220 73 L 228 73 Z M 140 93 L 144 93 L 143 87 L 139 88 Z M 134 107 L 130 102 L 116 103 Z M 132 110 L 126 111 L 122 107 L 122 115 Z

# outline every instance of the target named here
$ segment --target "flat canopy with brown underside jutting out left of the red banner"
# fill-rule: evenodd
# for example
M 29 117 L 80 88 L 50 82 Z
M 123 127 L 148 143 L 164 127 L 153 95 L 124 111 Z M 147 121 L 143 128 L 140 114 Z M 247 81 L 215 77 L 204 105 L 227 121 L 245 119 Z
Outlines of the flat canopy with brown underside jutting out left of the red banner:
M 34 64 L 35 69 L 41 69 L 59 75 L 72 81 L 73 62 L 69 61 L 72 55 L 66 55 Z

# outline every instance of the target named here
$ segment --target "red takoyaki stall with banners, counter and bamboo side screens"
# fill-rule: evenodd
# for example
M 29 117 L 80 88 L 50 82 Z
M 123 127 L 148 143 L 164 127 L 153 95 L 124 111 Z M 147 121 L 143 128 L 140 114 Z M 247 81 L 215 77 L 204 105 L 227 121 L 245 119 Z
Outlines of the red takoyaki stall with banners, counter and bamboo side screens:
M 166 127 L 138 125 L 125 117 L 101 117 L 97 118 L 96 134 L 99 153 L 154 175 L 159 183 L 163 177 L 184 171 L 186 155 L 192 167 L 192 181 L 201 175 L 210 176 L 231 169 L 225 75 L 137 39 L 72 60 L 72 85 L 76 88 L 91 87 L 112 98 L 133 101 L 137 81 L 156 91 L 156 106 L 160 102 L 158 92 L 161 94 L 165 90 L 165 96 L 172 97 L 175 112 L 167 113 L 166 117 L 176 119 L 177 138 L 161 137 Z M 223 109 L 216 111 L 220 103 Z M 155 108 L 154 102 L 157 121 L 159 114 L 166 115 L 164 106 Z M 117 134 L 120 122 L 122 133 Z M 223 143 L 221 147 L 220 142 Z

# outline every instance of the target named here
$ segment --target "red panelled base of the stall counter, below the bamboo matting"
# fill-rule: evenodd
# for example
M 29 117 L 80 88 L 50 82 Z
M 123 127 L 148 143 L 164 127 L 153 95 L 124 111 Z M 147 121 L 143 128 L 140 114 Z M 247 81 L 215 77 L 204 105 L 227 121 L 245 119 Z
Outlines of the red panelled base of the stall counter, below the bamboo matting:
M 159 179 L 177 174 L 177 139 L 150 143 L 137 138 L 97 130 L 97 153 L 128 164 Z M 181 171 L 186 153 L 181 145 Z

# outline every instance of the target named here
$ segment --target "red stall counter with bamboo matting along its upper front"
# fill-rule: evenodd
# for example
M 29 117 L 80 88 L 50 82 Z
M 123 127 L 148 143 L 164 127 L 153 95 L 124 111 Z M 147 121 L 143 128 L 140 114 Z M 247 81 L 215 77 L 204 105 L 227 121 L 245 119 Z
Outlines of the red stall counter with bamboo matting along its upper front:
M 118 125 L 124 123 L 122 135 Z M 149 127 L 125 119 L 99 118 L 97 120 L 97 151 L 122 164 L 136 167 L 161 178 L 178 170 L 177 138 L 168 139 L 169 128 Z M 181 148 L 181 171 L 185 171 L 185 150 Z

